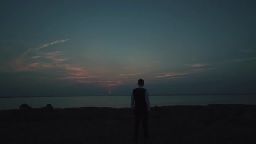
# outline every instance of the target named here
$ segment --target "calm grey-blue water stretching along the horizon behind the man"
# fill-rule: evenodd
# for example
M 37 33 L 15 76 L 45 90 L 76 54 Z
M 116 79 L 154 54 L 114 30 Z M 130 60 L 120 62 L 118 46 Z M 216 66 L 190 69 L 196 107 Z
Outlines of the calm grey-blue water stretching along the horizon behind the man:
M 149 96 L 151 107 L 163 105 L 207 104 L 256 104 L 255 95 L 186 95 Z M 54 108 L 66 107 L 130 107 L 130 96 L 70 96 L 70 97 L 25 97 L 0 98 L 0 110 L 19 109 L 23 103 L 33 108 L 52 104 Z

